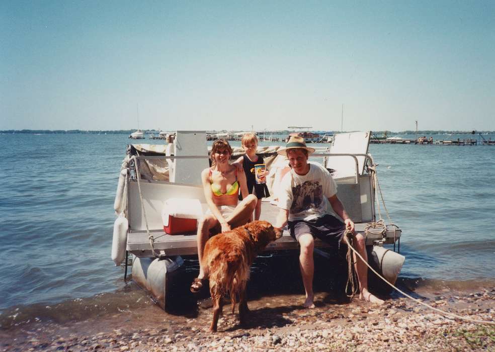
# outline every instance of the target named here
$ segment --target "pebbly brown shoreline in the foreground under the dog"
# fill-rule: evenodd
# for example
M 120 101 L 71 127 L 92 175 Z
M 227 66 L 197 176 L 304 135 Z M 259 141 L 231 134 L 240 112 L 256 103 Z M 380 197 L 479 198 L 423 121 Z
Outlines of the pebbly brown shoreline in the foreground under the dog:
M 495 289 L 446 291 L 421 297 L 445 311 L 495 321 Z M 240 327 L 237 314 L 231 315 L 229 305 L 225 306 L 219 332 L 214 334 L 208 331 L 209 308 L 199 320 L 178 317 L 172 324 L 164 324 L 156 316 L 122 313 L 98 321 L 0 330 L 0 350 L 495 350 L 494 325 L 451 319 L 407 298 L 388 299 L 382 306 L 358 299 L 320 302 L 315 309 L 254 306 L 246 327 Z

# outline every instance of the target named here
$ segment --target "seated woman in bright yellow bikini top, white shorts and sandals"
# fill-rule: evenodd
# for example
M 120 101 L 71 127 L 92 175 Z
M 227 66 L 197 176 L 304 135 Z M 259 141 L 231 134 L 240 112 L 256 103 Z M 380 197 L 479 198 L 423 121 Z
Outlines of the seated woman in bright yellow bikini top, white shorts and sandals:
M 199 275 L 191 284 L 191 292 L 199 292 L 203 287 L 205 273 L 201 266 L 203 249 L 210 237 L 210 230 L 214 234 L 229 231 L 231 228 L 246 224 L 251 220 L 256 207 L 256 196 L 247 192 L 244 172 L 230 164 L 232 148 L 224 139 L 216 140 L 211 148 L 211 167 L 201 172 L 203 190 L 205 193 L 208 211 L 198 222 L 198 259 Z M 238 202 L 238 194 L 242 201 Z

